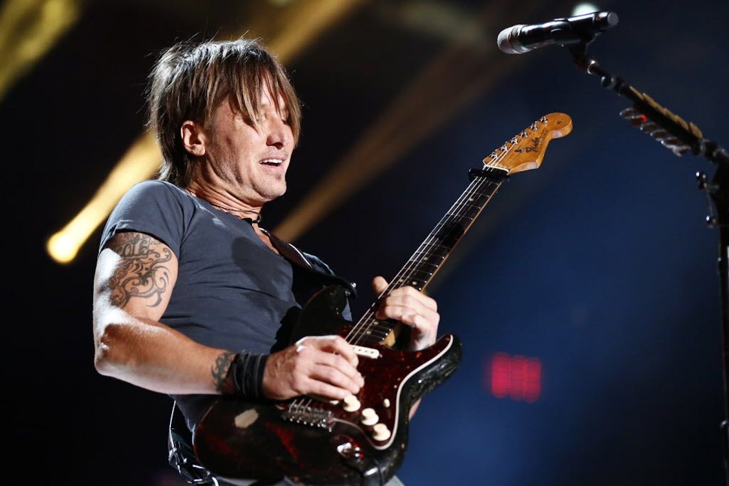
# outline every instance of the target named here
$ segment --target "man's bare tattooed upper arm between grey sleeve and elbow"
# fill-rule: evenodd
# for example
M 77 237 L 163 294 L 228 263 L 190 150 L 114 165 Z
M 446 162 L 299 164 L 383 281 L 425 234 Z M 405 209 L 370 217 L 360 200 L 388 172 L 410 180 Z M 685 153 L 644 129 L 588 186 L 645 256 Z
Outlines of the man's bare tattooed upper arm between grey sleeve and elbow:
M 141 232 L 119 232 L 98 256 L 94 278 L 95 324 L 122 315 L 159 321 L 177 278 L 177 257 L 165 243 Z

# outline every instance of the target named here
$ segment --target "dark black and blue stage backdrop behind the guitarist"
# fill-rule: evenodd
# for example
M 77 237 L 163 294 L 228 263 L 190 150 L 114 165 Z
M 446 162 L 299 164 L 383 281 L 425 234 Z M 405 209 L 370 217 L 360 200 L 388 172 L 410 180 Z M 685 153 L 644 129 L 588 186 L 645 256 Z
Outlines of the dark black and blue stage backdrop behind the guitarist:
M 297 2 L 267 3 L 86 2 L 0 101 L 9 477 L 181 484 L 166 462 L 168 397 L 93 368 L 98 230 L 71 264 L 53 262 L 44 245 L 143 130 L 152 54 L 195 34 L 246 31 L 254 9 L 274 25 L 276 9 Z M 381 144 L 408 141 L 397 157 L 294 240 L 359 283 L 359 313 L 373 299 L 370 279 L 397 273 L 465 189 L 469 168 L 543 114 L 561 111 L 574 123 L 539 170 L 504 184 L 428 289 L 441 332 L 457 334 L 464 355 L 410 425 L 398 473 L 408 486 L 725 481 L 718 232 L 706 226 L 711 205 L 695 182 L 697 171 L 715 168 L 631 128 L 618 115 L 630 101 L 563 48 L 497 49 L 502 28 L 566 17 L 572 7 L 362 1 L 286 62 L 304 103 L 303 135 L 289 192 L 265 209 L 270 230 L 454 52 L 413 111 L 394 109 L 401 118 Z M 728 2 L 597 7 L 620 23 L 590 54 L 729 144 Z M 539 359 L 537 401 L 491 393 L 499 352 Z

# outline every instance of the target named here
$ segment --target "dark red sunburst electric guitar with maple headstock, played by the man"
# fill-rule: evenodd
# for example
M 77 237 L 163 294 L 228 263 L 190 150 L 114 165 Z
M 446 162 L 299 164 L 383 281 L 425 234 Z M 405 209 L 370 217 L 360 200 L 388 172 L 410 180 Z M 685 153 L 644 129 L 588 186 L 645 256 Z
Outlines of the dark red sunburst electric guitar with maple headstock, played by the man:
M 359 356 L 364 386 L 356 396 L 271 403 L 221 397 L 193 433 L 200 463 L 237 484 L 284 476 L 305 485 L 383 485 L 391 479 L 405 458 L 411 405 L 456 371 L 461 343 L 445 334 L 424 350 L 398 350 L 399 323 L 375 319 L 378 303 L 401 286 L 424 289 L 502 182 L 538 168 L 550 140 L 571 131 L 568 115 L 547 114 L 486 157 L 483 168 L 471 169 L 467 189 L 356 323 L 342 317 L 343 286 L 327 286 L 306 303 L 300 334 L 340 334 Z

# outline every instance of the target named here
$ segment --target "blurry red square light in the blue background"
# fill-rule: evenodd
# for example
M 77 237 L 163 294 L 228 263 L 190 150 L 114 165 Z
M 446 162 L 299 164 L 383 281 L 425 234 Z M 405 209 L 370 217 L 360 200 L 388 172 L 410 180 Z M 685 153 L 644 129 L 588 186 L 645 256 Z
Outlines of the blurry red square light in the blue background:
M 542 393 L 542 362 L 539 358 L 510 356 L 496 353 L 491 358 L 491 393 L 498 399 L 506 398 L 532 403 Z

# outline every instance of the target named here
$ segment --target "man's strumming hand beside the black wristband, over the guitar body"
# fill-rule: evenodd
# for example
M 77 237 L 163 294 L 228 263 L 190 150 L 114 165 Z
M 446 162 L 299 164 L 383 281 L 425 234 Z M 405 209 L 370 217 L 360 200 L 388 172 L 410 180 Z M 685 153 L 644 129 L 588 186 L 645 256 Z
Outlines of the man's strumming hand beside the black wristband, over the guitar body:
M 364 385 L 356 354 L 342 337 L 307 336 L 273 353 L 263 372 L 263 393 L 286 400 L 299 395 L 341 400 Z

